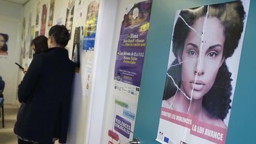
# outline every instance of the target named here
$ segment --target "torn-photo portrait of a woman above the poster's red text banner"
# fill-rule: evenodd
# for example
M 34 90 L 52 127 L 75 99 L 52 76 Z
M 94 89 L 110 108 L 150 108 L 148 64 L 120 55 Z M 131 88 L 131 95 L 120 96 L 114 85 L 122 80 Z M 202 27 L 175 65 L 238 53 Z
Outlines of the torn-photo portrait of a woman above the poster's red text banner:
M 238 44 L 242 43 L 244 18 L 241 1 L 178 12 L 164 94 L 165 102 L 171 102 L 174 110 L 194 116 L 201 113 L 193 111 L 195 108 L 203 110 L 209 119 L 226 127 L 222 121 L 231 109 L 235 88 L 231 82 L 236 79 L 231 78 L 229 67 L 238 68 L 239 64 L 238 61 L 228 65 L 227 61 L 236 51 L 240 56 L 242 47 Z M 177 107 L 180 98 L 183 103 Z

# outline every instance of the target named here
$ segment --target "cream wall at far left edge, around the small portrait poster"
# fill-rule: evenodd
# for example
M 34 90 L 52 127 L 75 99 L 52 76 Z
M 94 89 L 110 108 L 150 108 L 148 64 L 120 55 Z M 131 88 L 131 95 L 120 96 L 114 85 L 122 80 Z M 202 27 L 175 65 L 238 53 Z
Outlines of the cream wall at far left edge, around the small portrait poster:
M 20 31 L 23 7 L 0 0 L 0 33 L 9 34 L 8 56 L 0 57 L 0 75 L 5 81 L 5 104 L 15 104 L 18 68 L 14 62 L 20 58 Z

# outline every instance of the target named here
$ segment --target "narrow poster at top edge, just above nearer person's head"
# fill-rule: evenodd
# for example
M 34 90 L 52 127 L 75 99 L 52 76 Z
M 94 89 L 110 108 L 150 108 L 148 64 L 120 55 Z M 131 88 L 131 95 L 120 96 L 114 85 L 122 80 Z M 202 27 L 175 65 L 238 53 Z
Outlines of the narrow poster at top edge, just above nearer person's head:
M 65 26 L 69 31 L 70 37 L 71 37 L 71 31 L 72 31 L 72 24 L 73 24 L 73 12 L 75 8 L 75 1 L 69 0 L 68 2 L 68 8 L 66 11 L 66 23 Z

